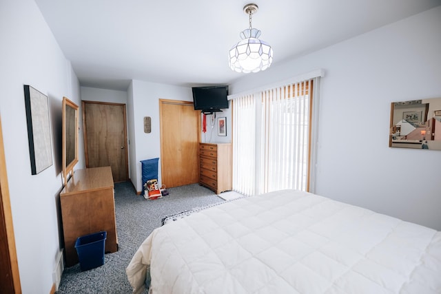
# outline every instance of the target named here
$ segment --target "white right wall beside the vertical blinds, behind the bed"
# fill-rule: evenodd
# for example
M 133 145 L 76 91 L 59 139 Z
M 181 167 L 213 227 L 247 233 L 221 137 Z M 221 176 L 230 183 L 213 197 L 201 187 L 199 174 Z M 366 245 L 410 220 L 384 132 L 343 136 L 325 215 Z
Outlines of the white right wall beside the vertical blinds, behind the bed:
M 440 32 L 438 6 L 249 74 L 229 90 L 323 68 L 317 193 L 441 230 L 441 151 L 388 147 L 391 102 L 441 97 Z

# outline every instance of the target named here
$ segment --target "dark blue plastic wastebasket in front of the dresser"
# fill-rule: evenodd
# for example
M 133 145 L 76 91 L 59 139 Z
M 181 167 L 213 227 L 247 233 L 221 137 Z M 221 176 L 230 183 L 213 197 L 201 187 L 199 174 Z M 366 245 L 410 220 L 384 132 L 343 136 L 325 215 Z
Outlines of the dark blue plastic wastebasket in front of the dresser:
M 78 253 L 81 271 L 94 269 L 104 264 L 104 249 L 107 232 L 101 231 L 83 235 L 76 239 L 75 249 Z

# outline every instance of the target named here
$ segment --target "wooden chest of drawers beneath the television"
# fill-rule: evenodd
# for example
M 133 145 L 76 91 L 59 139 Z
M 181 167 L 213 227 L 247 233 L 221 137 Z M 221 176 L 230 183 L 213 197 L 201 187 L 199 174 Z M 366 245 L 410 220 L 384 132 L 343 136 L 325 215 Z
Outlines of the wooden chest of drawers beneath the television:
M 199 184 L 216 194 L 232 189 L 231 143 L 199 143 Z

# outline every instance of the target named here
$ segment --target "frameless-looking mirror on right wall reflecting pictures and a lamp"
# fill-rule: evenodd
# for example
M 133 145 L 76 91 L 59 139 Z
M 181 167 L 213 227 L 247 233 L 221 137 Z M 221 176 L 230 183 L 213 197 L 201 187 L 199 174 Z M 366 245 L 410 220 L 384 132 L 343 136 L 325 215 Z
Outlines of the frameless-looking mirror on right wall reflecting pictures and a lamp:
M 441 150 L 441 98 L 391 103 L 389 147 Z

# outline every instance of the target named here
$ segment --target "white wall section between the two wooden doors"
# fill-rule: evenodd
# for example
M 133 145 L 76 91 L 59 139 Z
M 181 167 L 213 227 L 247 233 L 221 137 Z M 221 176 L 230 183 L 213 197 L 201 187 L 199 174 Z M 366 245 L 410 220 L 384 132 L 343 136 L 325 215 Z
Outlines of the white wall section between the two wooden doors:
M 131 180 L 136 191 L 142 191 L 141 160 L 159 158 L 158 182 L 161 184 L 161 134 L 159 126 L 159 99 L 193 101 L 191 87 L 178 87 L 161 83 L 132 81 L 128 94 L 127 107 L 130 105 L 132 122 L 129 126 L 131 138 L 136 142 L 130 143 Z M 152 132 L 144 133 L 144 116 L 152 118 Z M 134 146 L 133 146 L 134 145 Z

